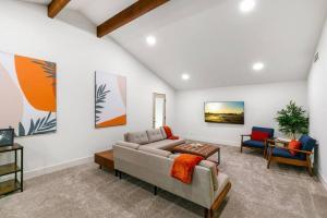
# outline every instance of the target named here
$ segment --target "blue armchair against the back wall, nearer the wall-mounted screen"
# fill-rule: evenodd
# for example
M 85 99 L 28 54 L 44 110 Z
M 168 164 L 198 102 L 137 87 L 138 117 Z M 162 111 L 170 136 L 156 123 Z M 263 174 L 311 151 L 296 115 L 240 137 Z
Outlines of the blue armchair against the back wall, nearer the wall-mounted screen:
M 268 133 L 268 138 L 274 137 L 274 129 L 270 128 L 258 128 L 258 126 L 253 126 L 252 128 L 252 133 L 253 132 L 265 132 Z M 241 135 L 241 153 L 243 152 L 243 147 L 252 148 L 252 149 L 259 149 L 264 152 L 264 157 L 266 157 L 267 154 L 267 143 L 266 141 L 254 141 L 251 138 L 252 134 L 247 135 Z M 244 141 L 244 137 L 250 137 L 250 140 Z

